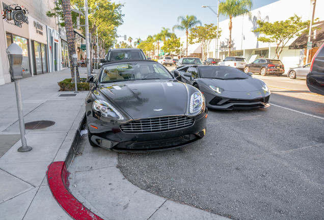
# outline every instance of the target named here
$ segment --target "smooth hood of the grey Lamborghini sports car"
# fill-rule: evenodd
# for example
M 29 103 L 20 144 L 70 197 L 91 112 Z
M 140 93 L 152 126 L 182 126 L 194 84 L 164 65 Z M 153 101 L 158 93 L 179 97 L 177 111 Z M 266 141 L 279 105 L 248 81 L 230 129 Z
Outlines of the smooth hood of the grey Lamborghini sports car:
M 261 81 L 256 78 L 228 80 L 205 78 L 204 80 L 210 86 L 218 86 L 226 91 L 232 92 L 258 91 L 262 89 Z

